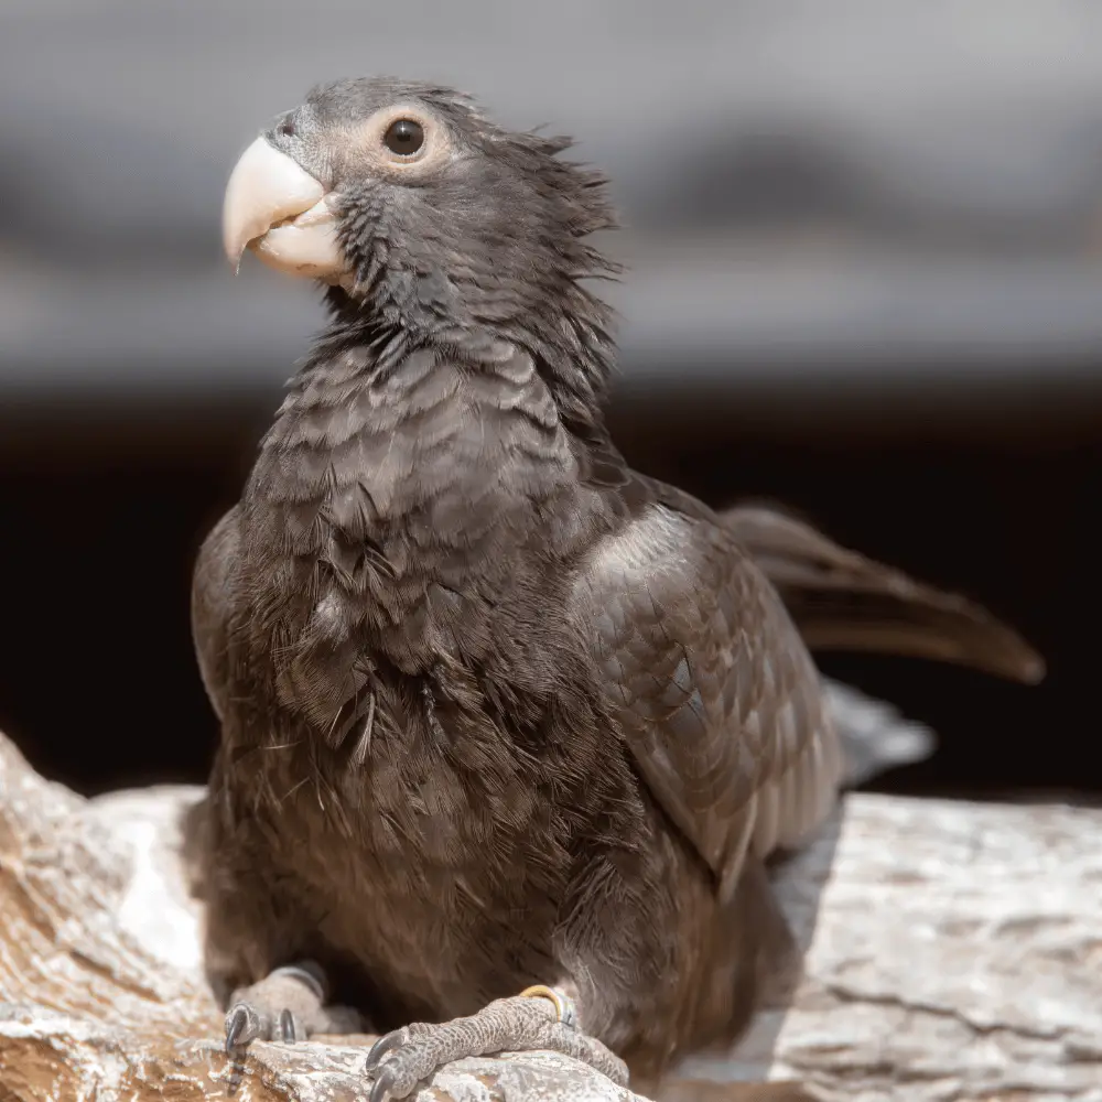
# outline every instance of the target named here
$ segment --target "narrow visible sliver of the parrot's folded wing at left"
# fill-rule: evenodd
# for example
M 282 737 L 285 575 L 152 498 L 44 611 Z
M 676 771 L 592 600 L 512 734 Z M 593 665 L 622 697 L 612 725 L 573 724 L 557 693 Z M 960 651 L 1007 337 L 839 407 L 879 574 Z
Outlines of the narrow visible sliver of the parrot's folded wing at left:
M 229 696 L 226 633 L 230 569 L 237 559 L 237 507 L 214 526 L 199 548 L 192 574 L 192 639 L 199 676 L 215 714 L 223 720 Z

